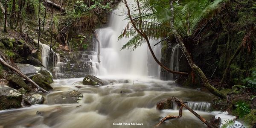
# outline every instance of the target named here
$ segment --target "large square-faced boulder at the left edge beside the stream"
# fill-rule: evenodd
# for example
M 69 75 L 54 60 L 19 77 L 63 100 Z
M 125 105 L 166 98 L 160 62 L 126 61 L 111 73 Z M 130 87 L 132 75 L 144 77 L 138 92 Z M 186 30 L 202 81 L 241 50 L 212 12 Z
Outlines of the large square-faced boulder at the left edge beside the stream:
M 21 102 L 20 92 L 6 85 L 0 86 L 0 110 L 20 108 Z

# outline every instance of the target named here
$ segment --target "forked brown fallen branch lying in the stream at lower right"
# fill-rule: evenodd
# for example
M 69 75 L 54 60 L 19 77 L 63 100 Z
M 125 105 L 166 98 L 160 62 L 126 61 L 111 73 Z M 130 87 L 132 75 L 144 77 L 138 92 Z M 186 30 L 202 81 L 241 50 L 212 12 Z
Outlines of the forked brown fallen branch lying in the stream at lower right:
M 158 127 L 161 123 L 163 123 L 166 120 L 169 119 L 177 119 L 180 118 L 182 116 L 182 109 L 183 107 L 186 108 L 187 110 L 189 110 L 191 113 L 193 113 L 198 119 L 200 119 L 202 122 L 204 122 L 204 124 L 206 124 L 208 126 L 208 128 L 218 128 L 217 126 L 214 126 L 212 124 L 210 124 L 209 122 L 207 122 L 202 116 L 200 116 L 198 113 L 196 113 L 195 111 L 193 111 L 191 108 L 189 108 L 188 106 L 184 105 L 183 102 L 181 102 L 179 99 L 177 99 L 176 97 L 172 96 L 172 99 L 174 100 L 174 102 L 180 106 L 180 112 L 179 112 L 179 116 L 166 116 L 164 117 L 156 126 Z

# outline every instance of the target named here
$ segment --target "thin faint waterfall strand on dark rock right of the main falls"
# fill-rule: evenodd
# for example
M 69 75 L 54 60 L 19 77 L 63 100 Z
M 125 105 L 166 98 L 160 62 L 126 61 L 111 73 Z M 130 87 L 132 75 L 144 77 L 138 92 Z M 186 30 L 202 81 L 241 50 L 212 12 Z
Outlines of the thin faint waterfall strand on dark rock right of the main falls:
M 180 46 L 179 44 L 176 44 L 172 48 L 172 55 L 171 55 L 171 61 L 170 61 L 170 69 L 174 71 L 179 71 L 179 59 L 180 59 Z M 176 79 L 176 75 L 170 73 L 170 79 Z

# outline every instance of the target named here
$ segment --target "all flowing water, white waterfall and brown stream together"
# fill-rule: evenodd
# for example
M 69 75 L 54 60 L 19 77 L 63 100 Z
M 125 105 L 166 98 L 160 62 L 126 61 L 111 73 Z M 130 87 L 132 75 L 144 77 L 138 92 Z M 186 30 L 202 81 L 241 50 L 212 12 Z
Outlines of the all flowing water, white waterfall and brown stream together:
M 0 111 L 0 128 L 152 128 L 162 117 L 178 115 L 179 110 L 176 108 L 163 111 L 156 109 L 157 102 L 172 96 L 187 101 L 189 107 L 207 120 L 216 115 L 210 112 L 209 102 L 215 98 L 212 94 L 178 87 L 174 81 L 159 80 L 160 67 L 151 58 L 146 45 L 134 51 L 120 51 L 129 40 L 124 38 L 117 41 L 128 22 L 123 20 L 124 17 L 114 15 L 122 10 L 123 5 L 113 11 L 108 27 L 96 30 L 101 43 L 100 63 L 97 62 L 96 54 L 90 58 L 93 63 L 91 73 L 111 84 L 94 87 L 83 85 L 83 78 L 54 80 L 51 84 L 54 89 L 44 94 L 44 105 Z M 151 41 L 151 44 L 155 43 L 157 41 Z M 41 45 L 43 49 L 48 49 L 47 45 Z M 158 58 L 160 49 L 159 45 L 154 47 Z M 42 62 L 46 67 L 47 52 L 49 50 L 42 52 Z M 58 62 L 59 55 L 55 56 Z M 55 64 L 58 65 L 57 62 Z M 83 94 L 79 103 L 53 102 L 56 96 L 72 90 Z M 184 110 L 180 119 L 166 121 L 159 128 L 206 126 L 188 110 Z

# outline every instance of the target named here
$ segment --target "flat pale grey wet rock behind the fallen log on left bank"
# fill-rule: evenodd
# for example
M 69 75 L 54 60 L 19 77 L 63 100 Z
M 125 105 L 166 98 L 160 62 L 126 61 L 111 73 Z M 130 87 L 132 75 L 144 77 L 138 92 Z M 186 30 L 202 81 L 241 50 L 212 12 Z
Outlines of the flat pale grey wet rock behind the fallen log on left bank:
M 33 76 L 41 71 L 41 67 L 35 67 L 30 64 L 16 64 L 20 72 L 26 76 Z

